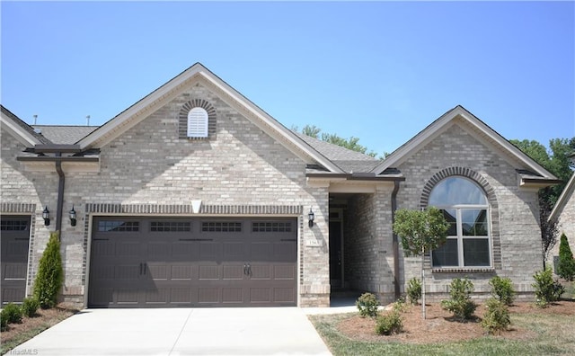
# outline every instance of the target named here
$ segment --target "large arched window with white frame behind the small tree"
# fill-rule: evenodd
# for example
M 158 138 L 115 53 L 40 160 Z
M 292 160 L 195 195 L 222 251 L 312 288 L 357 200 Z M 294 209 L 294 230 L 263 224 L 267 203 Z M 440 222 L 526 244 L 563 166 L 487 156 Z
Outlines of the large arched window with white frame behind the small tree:
M 491 266 L 489 204 L 475 182 L 450 176 L 429 193 L 429 205 L 443 211 L 447 243 L 431 253 L 433 267 Z

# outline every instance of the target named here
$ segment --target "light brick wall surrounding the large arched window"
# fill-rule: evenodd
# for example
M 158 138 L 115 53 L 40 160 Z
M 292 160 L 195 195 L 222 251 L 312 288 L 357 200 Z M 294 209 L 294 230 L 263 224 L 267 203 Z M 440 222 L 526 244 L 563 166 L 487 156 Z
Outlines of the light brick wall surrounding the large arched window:
M 509 277 L 522 295 L 531 296 L 532 276 L 543 267 L 536 191 L 519 189 L 516 166 L 482 145 L 458 124 L 421 147 L 419 152 L 399 166 L 406 181 L 398 193 L 398 209 L 420 209 L 426 183 L 434 174 L 447 167 L 470 169 L 491 186 L 498 204 L 498 209 L 491 211 L 495 214 L 491 216 L 491 224 L 499 233 L 500 263 L 495 263 L 492 271 L 456 273 L 431 272 L 428 263 L 428 291 L 438 293 L 439 296 L 439 293 L 447 292 L 447 286 L 453 278 L 467 277 L 473 280 L 477 292 L 487 292 L 489 279 L 500 275 Z M 403 286 L 412 277 L 420 277 L 419 257 L 406 258 L 402 253 L 400 265 Z

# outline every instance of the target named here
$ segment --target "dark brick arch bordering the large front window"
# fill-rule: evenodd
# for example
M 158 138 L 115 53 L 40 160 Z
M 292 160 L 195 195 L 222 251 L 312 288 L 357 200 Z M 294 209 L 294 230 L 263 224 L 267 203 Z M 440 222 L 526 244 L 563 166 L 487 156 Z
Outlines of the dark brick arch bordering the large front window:
M 420 198 L 420 207 L 426 208 L 429 202 L 429 194 L 436 186 L 436 184 L 446 179 L 447 177 L 451 176 L 461 176 L 469 178 L 473 182 L 479 184 L 479 186 L 481 186 L 482 190 L 485 192 L 491 211 L 491 240 L 493 244 L 492 246 L 493 267 L 496 270 L 500 270 L 501 269 L 500 209 L 499 204 L 497 202 L 497 196 L 495 195 L 495 190 L 493 189 L 493 187 L 491 187 L 491 184 L 487 182 L 485 177 L 482 176 L 482 174 L 478 174 L 472 169 L 464 167 L 448 167 L 446 169 L 439 171 L 437 174 L 433 174 L 433 176 L 429 178 L 429 181 L 425 183 L 425 186 L 423 186 L 423 191 L 421 192 L 421 198 Z

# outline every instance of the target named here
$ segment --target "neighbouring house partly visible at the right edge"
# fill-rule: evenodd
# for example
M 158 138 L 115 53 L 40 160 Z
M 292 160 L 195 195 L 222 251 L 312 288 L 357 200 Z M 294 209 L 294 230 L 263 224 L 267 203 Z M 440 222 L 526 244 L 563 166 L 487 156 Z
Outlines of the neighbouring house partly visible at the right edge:
M 571 155 L 571 159 L 575 160 L 575 153 Z M 553 210 L 551 210 L 551 214 L 549 214 L 549 220 L 557 224 L 559 232 L 557 244 L 553 246 L 549 254 L 553 261 L 553 271 L 556 271 L 562 234 L 567 236 L 571 251 L 575 251 L 575 174 L 571 174 L 569 182 L 567 182 Z

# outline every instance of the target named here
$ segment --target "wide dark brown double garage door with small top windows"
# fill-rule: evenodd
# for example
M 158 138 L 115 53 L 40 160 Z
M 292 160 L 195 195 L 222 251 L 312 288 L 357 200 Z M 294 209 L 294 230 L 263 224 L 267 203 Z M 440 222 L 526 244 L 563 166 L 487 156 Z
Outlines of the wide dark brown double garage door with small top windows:
M 89 307 L 296 306 L 296 219 L 93 220 Z

